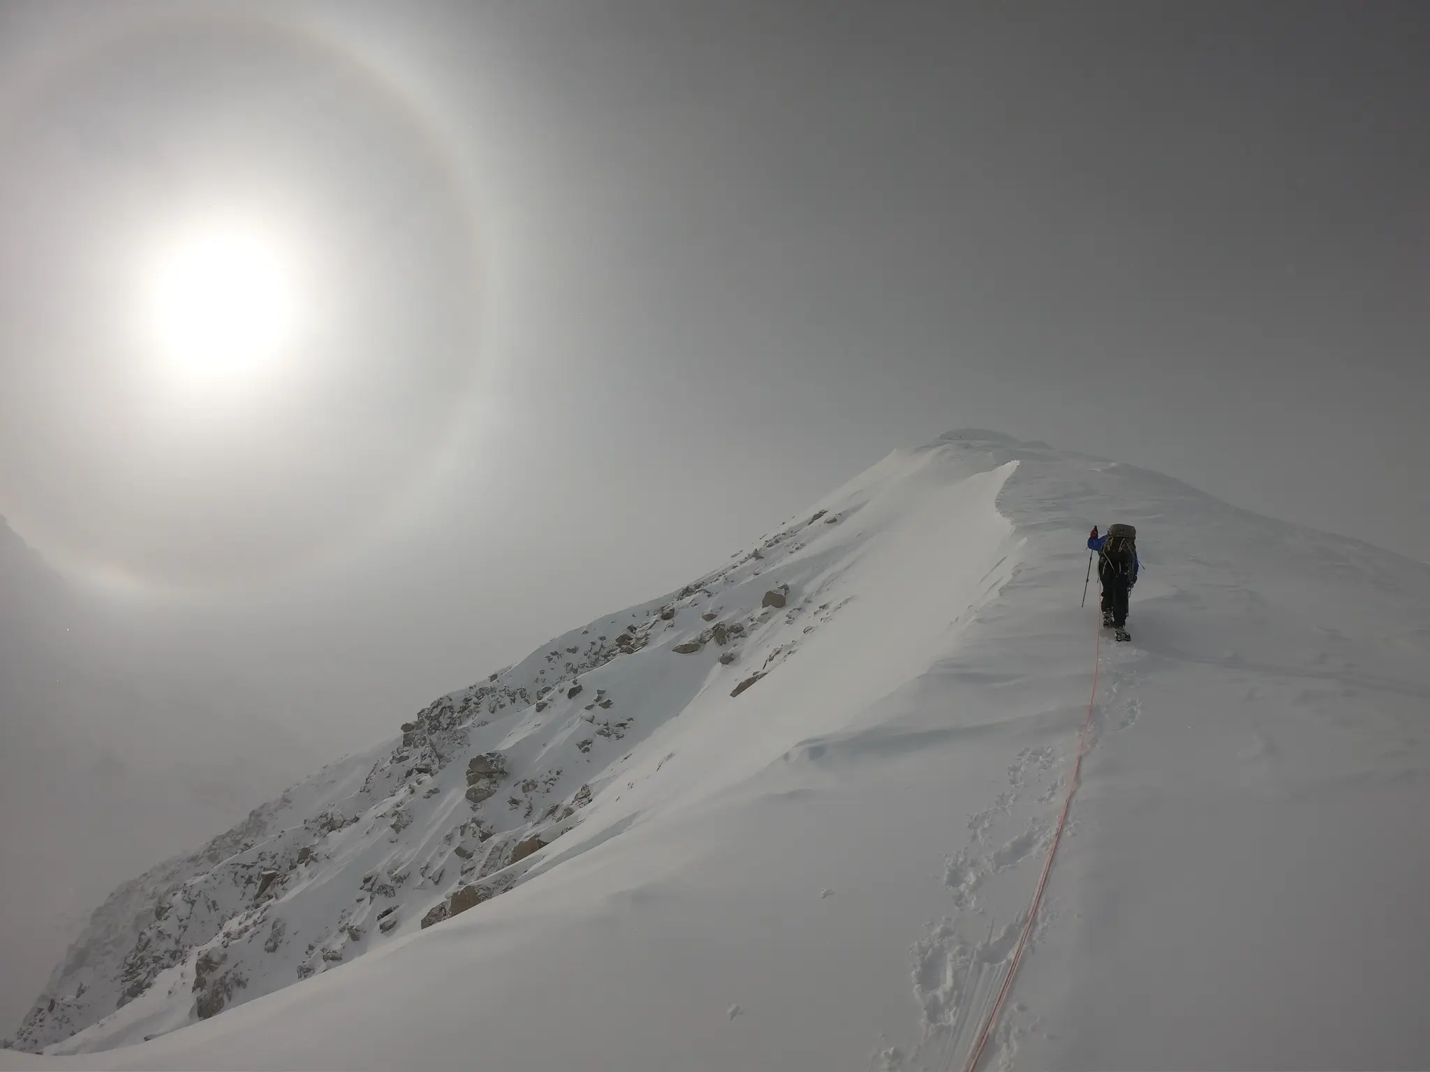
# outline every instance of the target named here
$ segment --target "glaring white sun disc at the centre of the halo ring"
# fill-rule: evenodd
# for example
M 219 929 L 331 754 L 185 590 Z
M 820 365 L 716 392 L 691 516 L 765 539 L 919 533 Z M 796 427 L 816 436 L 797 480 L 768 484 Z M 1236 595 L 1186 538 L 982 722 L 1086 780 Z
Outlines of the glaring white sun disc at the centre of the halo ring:
M 149 320 L 164 357 L 189 376 L 229 379 L 293 340 L 296 294 L 277 243 L 237 226 L 190 233 L 159 260 Z

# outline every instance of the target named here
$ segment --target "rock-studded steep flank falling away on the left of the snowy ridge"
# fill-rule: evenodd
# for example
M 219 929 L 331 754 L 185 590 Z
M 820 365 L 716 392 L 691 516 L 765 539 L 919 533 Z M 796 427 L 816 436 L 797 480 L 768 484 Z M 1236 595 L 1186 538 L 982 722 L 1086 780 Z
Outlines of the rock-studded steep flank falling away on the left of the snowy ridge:
M 508 892 L 706 678 L 729 692 L 768 675 L 838 613 L 815 595 L 861 542 L 834 539 L 864 502 L 845 499 L 436 699 L 400 738 L 116 890 L 14 1045 L 172 1031 Z

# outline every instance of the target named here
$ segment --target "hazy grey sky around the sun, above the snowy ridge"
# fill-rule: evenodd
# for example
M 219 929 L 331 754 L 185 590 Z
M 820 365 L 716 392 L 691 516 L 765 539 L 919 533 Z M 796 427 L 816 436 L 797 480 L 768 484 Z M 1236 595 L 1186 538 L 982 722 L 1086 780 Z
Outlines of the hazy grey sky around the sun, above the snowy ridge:
M 227 698 L 163 762 L 369 743 L 957 426 L 1430 559 L 1423 4 L 11 3 L 0 74 L 0 513 Z M 216 217 L 302 330 L 177 383 Z

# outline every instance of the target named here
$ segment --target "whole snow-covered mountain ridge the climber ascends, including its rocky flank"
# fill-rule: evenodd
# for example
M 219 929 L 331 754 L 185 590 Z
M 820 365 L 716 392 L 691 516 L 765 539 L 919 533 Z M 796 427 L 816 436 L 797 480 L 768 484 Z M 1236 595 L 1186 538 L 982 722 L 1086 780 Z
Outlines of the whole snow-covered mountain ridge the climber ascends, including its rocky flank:
M 130 883 L 0 1068 L 962 1068 L 1098 659 L 981 1068 L 1430 1068 L 1427 656 L 1430 566 L 950 433 Z

